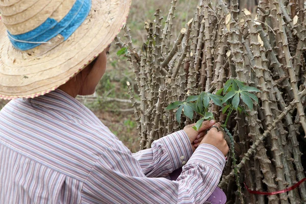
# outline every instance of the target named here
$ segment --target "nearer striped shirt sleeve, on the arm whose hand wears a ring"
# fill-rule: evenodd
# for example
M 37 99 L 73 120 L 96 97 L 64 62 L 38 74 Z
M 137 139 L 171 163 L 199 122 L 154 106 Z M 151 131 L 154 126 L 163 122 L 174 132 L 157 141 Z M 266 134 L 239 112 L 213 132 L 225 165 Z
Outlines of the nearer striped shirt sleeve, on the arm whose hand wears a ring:
M 218 149 L 202 144 L 177 181 L 149 178 L 131 151 L 118 142 L 97 160 L 83 184 L 82 200 L 85 203 L 203 203 L 219 183 L 224 164 L 224 156 Z

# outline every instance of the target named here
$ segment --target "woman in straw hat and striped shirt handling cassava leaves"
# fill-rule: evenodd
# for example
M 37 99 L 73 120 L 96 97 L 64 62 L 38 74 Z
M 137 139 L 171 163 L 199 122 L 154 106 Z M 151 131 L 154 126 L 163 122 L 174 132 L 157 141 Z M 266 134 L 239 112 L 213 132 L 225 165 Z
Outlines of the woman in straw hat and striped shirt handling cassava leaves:
M 103 77 L 130 4 L 0 1 L 0 96 L 13 99 L 0 112 L 0 203 L 203 203 L 215 190 L 228 152 L 219 123 L 132 154 L 74 99 Z

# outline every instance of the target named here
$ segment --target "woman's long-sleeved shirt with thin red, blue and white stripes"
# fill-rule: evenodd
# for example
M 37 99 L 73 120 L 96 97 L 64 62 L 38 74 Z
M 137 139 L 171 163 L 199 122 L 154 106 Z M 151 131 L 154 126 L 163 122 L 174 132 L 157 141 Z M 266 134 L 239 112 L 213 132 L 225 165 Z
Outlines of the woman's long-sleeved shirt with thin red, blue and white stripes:
M 0 203 L 203 203 L 225 159 L 208 144 L 191 155 L 184 131 L 132 154 L 61 90 L 15 99 L 0 112 Z

